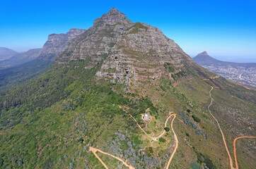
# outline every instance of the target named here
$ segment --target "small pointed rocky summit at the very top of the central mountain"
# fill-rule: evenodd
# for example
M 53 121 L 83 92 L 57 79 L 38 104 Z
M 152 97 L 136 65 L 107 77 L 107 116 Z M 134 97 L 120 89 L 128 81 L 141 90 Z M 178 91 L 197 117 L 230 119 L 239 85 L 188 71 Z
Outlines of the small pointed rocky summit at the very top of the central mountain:
M 116 8 L 111 8 L 107 14 L 103 14 L 102 17 L 95 19 L 93 26 L 101 27 L 101 26 L 105 26 L 107 24 L 115 25 L 118 23 L 127 25 L 127 24 L 132 23 L 132 21 L 129 20 L 126 17 L 126 15 L 124 15 L 124 13 L 121 13 Z

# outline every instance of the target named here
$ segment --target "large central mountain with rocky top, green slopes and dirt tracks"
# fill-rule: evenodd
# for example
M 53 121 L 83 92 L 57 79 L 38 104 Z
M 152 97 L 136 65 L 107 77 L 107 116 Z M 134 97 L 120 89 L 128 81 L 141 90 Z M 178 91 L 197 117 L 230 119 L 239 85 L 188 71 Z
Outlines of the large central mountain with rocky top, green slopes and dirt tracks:
M 0 167 L 254 168 L 255 96 L 112 8 L 1 91 Z

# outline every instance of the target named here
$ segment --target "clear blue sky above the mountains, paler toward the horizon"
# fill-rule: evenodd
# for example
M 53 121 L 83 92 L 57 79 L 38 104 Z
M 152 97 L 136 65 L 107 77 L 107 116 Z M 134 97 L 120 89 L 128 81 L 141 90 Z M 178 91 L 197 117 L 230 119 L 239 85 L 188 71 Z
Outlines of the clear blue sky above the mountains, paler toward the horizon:
M 0 0 L 0 46 L 40 48 L 47 35 L 88 29 L 115 7 L 133 22 L 163 30 L 190 56 L 256 62 L 256 1 L 17 1 Z

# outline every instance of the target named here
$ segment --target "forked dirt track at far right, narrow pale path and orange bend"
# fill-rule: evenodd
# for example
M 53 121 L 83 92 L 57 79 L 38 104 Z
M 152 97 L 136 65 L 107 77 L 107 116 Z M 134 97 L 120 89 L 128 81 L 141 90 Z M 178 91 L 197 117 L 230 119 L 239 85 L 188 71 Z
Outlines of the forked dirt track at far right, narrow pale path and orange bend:
M 218 78 L 218 77 L 216 77 L 216 78 Z M 211 97 L 211 91 L 212 91 L 213 89 L 214 89 L 214 87 L 211 87 L 211 90 L 210 90 L 210 92 L 209 92 L 209 95 L 210 95 L 210 98 L 211 98 L 211 103 L 210 103 L 209 106 L 208 106 L 208 111 L 209 111 L 210 114 L 211 114 L 210 106 L 211 106 L 212 102 L 214 101 L 214 99 Z M 221 130 L 221 126 L 219 125 L 219 122 L 218 122 L 218 120 L 214 117 L 214 115 L 211 114 L 211 116 L 214 118 L 214 120 L 216 120 L 216 123 L 218 124 L 219 130 L 221 131 L 221 135 L 222 135 L 222 138 L 223 138 L 223 143 L 224 143 L 225 149 L 226 149 L 226 151 L 227 151 L 227 153 L 228 153 L 228 158 L 229 158 L 229 163 L 230 163 L 230 165 L 231 165 L 231 169 L 238 169 L 238 168 L 239 168 L 239 167 L 238 167 L 238 159 L 237 159 L 237 156 L 236 156 L 236 147 L 235 147 L 235 142 L 236 142 L 236 140 L 242 139 L 242 138 L 254 138 L 254 139 L 255 139 L 256 137 L 254 137 L 254 136 L 242 136 L 242 137 L 237 137 L 237 138 L 234 139 L 234 141 L 233 141 L 233 149 L 234 149 L 234 157 L 235 157 L 235 167 L 234 167 L 234 165 L 233 165 L 233 159 L 231 158 L 231 154 L 230 154 L 229 151 L 228 151 L 228 146 L 227 146 L 227 144 L 226 144 L 226 139 L 225 139 L 225 137 L 224 137 L 224 134 L 223 134 L 223 132 L 222 132 L 222 130 Z

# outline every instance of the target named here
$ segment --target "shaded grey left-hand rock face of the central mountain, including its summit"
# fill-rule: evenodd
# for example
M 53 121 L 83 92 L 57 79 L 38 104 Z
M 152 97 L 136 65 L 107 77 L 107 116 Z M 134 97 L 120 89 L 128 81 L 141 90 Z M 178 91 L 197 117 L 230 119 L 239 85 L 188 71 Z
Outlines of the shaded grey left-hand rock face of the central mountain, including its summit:
M 86 68 L 102 61 L 110 54 L 112 47 L 127 32 L 132 21 L 127 19 L 124 13 L 112 8 L 107 14 L 95 19 L 93 27 L 83 32 L 70 42 L 66 51 L 59 57 L 59 63 L 69 63 L 90 59 Z

